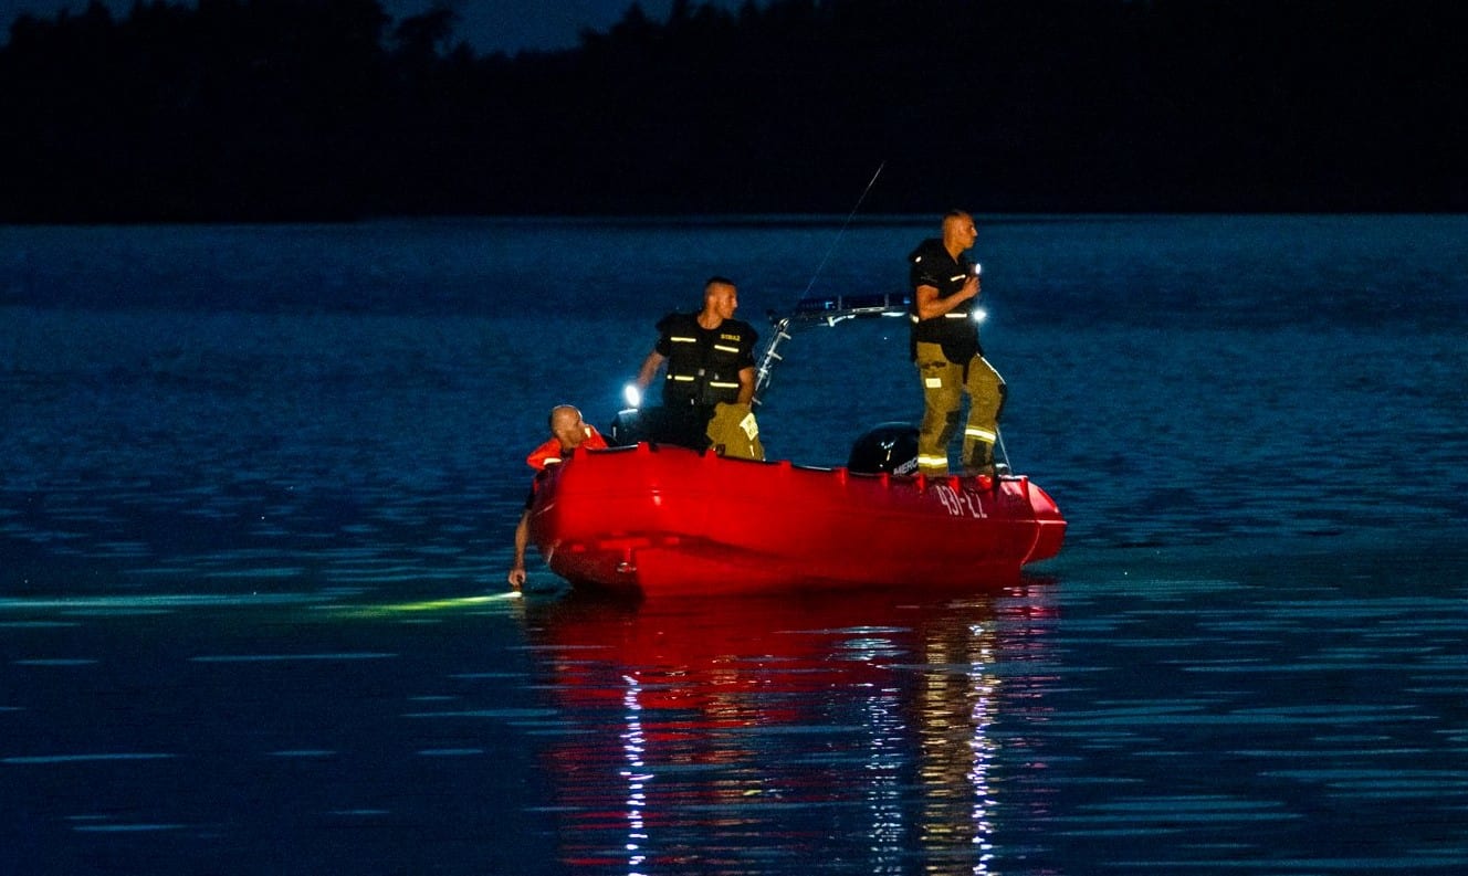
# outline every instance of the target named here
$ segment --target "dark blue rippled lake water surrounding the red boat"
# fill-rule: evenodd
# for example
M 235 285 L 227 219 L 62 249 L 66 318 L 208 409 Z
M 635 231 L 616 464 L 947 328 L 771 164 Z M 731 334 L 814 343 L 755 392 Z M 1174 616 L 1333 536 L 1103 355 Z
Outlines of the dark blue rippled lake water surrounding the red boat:
M 929 225 L 0 229 L 0 870 L 1458 872 L 1464 217 L 981 223 L 1019 587 L 504 594 L 549 405 Z M 904 357 L 799 335 L 766 448 Z

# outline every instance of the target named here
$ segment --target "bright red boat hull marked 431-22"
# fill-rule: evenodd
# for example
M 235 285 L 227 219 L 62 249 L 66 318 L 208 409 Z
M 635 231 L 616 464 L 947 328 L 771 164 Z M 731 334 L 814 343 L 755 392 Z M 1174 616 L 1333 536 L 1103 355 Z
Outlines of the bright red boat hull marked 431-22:
M 530 512 L 553 572 L 647 596 L 997 587 L 1054 556 L 1064 530 L 1025 477 L 856 474 L 647 443 L 553 467 Z

